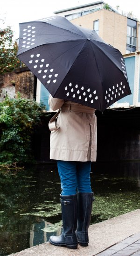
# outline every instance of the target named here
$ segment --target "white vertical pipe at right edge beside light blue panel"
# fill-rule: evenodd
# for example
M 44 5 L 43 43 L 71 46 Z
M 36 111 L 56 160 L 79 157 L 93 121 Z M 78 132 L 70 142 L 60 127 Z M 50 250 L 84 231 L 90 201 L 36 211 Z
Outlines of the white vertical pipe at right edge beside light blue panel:
M 139 81 L 140 81 L 140 51 L 136 51 L 135 52 L 134 90 L 133 90 L 133 105 L 134 106 L 138 106 Z

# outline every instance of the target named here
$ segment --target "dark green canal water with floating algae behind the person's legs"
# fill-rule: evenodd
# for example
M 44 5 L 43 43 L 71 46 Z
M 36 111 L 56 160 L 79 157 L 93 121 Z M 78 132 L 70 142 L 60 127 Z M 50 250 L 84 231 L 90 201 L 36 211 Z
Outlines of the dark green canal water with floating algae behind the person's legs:
M 92 163 L 91 224 L 140 208 L 140 162 Z M 0 174 L 0 256 L 62 232 L 56 163 Z

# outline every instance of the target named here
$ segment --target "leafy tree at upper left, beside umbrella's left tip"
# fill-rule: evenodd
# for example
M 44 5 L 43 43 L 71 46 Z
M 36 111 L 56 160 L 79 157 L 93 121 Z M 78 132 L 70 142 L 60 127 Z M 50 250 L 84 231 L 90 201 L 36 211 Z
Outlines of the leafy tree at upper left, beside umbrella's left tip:
M 16 57 L 18 46 L 16 42 L 13 43 L 13 36 L 11 27 L 0 28 L 0 74 L 20 67 L 20 60 Z

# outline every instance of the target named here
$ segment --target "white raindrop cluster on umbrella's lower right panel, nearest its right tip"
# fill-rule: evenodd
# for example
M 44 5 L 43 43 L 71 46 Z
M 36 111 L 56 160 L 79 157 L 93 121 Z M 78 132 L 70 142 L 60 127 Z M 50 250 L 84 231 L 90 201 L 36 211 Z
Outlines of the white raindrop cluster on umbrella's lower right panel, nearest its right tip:
M 124 94 L 124 89 L 126 88 L 125 85 L 123 85 L 122 82 L 119 84 L 116 84 L 116 86 L 110 86 L 108 90 L 105 92 L 105 100 L 109 103 L 112 100 L 116 100 L 117 98 L 122 96 Z

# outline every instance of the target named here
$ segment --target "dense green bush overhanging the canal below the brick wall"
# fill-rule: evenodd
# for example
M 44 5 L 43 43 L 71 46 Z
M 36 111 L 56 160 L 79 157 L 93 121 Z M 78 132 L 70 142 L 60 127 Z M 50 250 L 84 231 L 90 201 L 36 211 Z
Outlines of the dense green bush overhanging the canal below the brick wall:
M 35 100 L 5 98 L 0 102 L 0 164 L 25 164 L 34 160 L 31 138 L 41 123 L 44 106 Z

